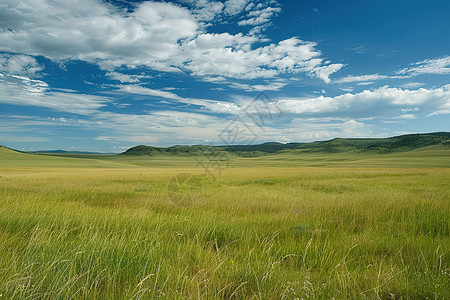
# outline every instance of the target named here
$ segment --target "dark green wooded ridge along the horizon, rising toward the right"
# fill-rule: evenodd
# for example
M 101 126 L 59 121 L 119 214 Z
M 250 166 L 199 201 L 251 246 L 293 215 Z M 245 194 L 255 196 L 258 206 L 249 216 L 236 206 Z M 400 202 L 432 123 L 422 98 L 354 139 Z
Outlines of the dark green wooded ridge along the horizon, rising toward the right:
M 450 132 L 435 132 L 424 134 L 407 134 L 390 138 L 335 138 L 328 141 L 311 143 L 264 143 L 260 145 L 234 146 L 172 146 L 168 148 L 139 145 L 128 149 L 123 155 L 194 155 L 205 151 L 226 151 L 244 156 L 258 156 L 268 153 L 296 152 L 347 152 L 368 151 L 376 153 L 401 152 L 420 149 L 434 145 L 442 145 L 450 149 Z

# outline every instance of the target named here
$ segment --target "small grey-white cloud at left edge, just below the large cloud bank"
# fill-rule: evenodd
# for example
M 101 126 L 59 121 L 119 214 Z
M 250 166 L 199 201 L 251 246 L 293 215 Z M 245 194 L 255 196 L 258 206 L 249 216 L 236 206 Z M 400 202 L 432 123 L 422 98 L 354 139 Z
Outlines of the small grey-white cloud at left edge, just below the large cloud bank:
M 21 54 L 0 53 L 0 72 L 34 77 L 44 67 L 34 57 Z

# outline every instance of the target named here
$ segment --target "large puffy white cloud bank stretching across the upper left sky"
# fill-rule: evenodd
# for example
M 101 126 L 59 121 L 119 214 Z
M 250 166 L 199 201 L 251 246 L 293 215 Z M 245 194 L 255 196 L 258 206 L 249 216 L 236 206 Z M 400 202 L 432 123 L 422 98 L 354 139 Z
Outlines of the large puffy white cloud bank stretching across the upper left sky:
M 279 11 L 267 3 L 244 7 L 248 1 L 222 7 L 205 0 L 197 4 L 205 12 L 197 14 L 207 20 L 244 9 L 251 17 L 244 22 L 257 25 Z M 195 9 L 173 3 L 142 2 L 124 11 L 99 0 L 5 0 L 0 11 L 0 51 L 96 63 L 121 82 L 137 79 L 114 73 L 124 66 L 240 79 L 305 73 L 326 82 L 342 67 L 324 63 L 315 43 L 298 38 L 257 47 L 262 40 L 255 35 L 207 33 Z

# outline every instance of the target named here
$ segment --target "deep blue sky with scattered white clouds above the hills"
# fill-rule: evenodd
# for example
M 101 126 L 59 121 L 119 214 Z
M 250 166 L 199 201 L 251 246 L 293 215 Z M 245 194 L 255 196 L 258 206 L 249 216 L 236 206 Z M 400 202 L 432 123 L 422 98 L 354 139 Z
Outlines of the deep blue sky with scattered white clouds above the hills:
M 450 131 L 448 0 L 0 0 L 0 144 Z

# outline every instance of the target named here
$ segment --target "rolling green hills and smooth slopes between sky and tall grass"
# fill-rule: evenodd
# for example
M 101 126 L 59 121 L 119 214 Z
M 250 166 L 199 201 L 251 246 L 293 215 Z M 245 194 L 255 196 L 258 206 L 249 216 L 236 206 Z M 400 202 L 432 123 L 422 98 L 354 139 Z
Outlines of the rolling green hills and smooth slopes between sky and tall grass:
M 199 168 L 208 163 L 221 168 L 449 168 L 450 133 L 250 146 L 139 145 L 121 154 L 25 153 L 0 146 L 0 167 Z

